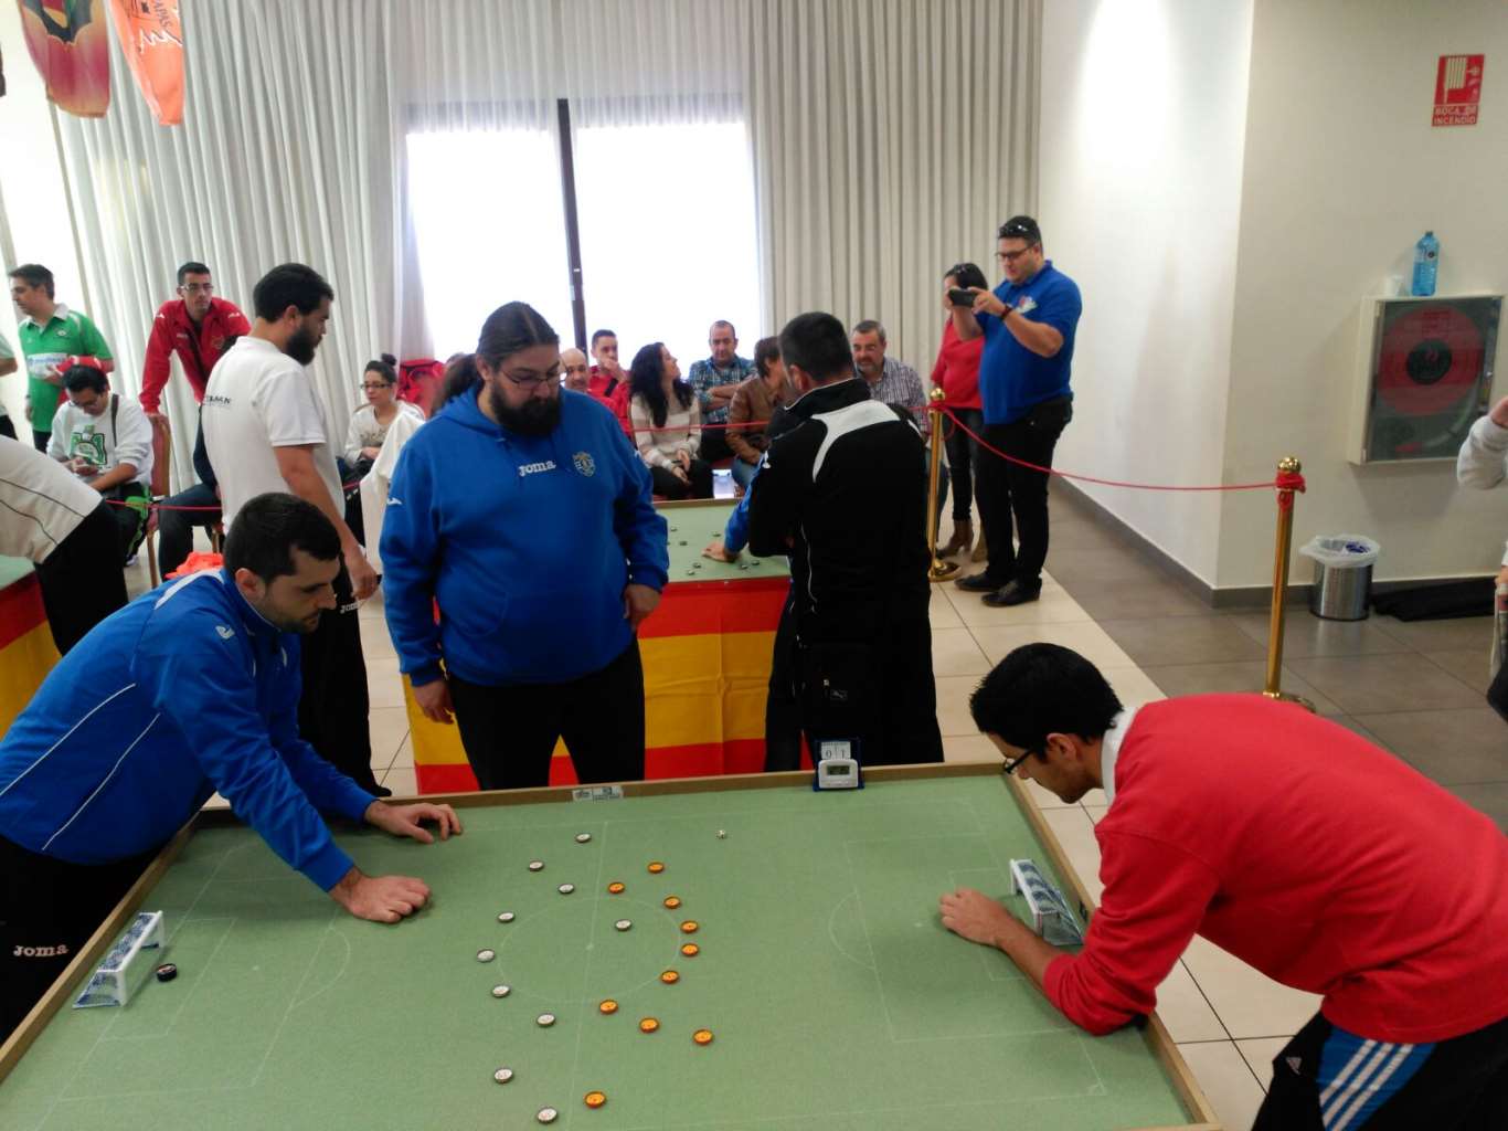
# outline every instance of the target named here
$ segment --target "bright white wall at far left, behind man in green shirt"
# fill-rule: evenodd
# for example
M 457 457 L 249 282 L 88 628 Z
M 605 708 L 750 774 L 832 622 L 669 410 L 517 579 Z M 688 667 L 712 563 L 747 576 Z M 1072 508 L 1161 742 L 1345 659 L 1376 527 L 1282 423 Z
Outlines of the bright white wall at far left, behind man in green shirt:
M 0 240 L 0 250 L 8 259 L 5 270 L 18 262 L 44 264 L 57 280 L 59 302 L 86 309 L 47 89 L 26 51 L 18 5 L 0 3 L 0 42 L 6 48 L 6 95 L 0 98 L 0 199 L 5 201 L 0 223 L 8 229 L 8 238 Z M 15 259 L 9 259 L 11 253 Z M 21 360 L 11 280 L 3 282 L 6 297 L 0 303 L 0 333 L 11 342 L 17 360 Z M 26 418 L 21 415 L 26 400 L 24 362 L 14 375 L 0 377 L 0 397 L 5 397 L 17 433 L 26 436 Z

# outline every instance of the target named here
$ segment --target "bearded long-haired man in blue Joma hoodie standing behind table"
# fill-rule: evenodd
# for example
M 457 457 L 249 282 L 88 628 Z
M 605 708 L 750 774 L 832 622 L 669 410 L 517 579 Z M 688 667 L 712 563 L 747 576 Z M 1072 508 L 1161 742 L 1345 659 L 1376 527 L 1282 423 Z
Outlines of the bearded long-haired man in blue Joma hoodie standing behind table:
M 454 712 L 483 789 L 547 784 L 559 737 L 584 783 L 644 777 L 635 630 L 668 576 L 665 519 L 612 413 L 559 371 L 534 308 L 493 311 L 383 520 L 398 667 L 428 718 Z

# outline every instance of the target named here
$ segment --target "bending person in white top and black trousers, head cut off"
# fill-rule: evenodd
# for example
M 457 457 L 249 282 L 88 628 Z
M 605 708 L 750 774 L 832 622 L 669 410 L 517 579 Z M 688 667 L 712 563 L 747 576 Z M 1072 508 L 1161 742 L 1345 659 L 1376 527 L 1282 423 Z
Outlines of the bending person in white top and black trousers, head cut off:
M 0 436 L 0 553 L 36 566 L 57 651 L 125 605 L 113 508 L 30 443 Z

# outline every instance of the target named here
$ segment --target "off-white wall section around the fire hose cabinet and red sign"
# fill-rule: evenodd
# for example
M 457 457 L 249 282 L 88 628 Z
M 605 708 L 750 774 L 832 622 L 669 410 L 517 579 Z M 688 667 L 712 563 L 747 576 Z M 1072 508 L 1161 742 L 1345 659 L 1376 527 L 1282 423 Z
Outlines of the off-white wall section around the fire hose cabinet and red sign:
M 1487 56 L 1479 124 L 1431 128 L 1436 62 L 1452 53 Z M 1508 9 L 1259 0 L 1250 69 L 1226 475 L 1300 455 L 1295 541 L 1371 534 L 1378 579 L 1491 572 L 1508 492 L 1463 490 L 1448 463 L 1354 467 L 1344 445 L 1360 300 L 1407 277 L 1427 228 L 1439 294 L 1508 288 Z M 1223 517 L 1218 585 L 1264 584 L 1270 529 L 1231 502 Z M 1309 579 L 1307 562 L 1294 570 Z

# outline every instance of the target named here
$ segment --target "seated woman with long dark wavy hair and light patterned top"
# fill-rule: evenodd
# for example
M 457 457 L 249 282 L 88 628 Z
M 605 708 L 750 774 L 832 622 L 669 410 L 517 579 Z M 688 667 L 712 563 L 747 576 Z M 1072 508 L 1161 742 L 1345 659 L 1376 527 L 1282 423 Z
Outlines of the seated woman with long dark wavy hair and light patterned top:
M 667 499 L 710 499 L 712 464 L 701 449 L 701 409 L 665 342 L 650 342 L 629 366 L 629 419 L 639 458 L 650 469 L 654 493 Z

